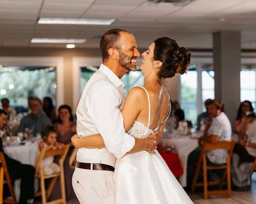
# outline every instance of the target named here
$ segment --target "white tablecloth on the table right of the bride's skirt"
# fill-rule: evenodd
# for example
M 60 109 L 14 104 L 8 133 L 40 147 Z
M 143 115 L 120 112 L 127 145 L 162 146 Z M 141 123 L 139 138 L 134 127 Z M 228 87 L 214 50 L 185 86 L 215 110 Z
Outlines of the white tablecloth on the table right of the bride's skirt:
M 201 133 L 198 133 L 198 136 Z M 195 138 L 191 138 L 189 136 L 182 136 L 178 134 L 164 134 L 161 145 L 162 146 L 171 146 L 172 144 L 175 146 L 175 150 L 179 156 L 181 165 L 183 167 L 183 174 L 179 176 L 178 181 L 182 187 L 186 187 L 186 172 L 187 172 L 187 161 L 189 154 L 198 147 L 198 140 Z M 194 176 L 194 175 L 191 175 Z

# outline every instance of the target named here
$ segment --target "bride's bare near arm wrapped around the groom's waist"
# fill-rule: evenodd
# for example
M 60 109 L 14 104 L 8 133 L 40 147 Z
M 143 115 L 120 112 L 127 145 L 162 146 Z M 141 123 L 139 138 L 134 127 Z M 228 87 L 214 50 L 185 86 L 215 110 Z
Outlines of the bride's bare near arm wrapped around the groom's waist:
M 139 99 L 141 98 L 141 94 L 144 94 L 143 91 L 144 90 L 139 87 L 132 88 L 125 100 L 125 104 L 121 111 L 124 119 L 125 132 L 130 129 L 141 111 L 141 103 Z M 105 147 L 104 141 L 100 134 L 83 138 L 79 138 L 77 135 L 74 135 L 71 138 L 71 141 L 74 147 L 85 147 L 92 149 Z

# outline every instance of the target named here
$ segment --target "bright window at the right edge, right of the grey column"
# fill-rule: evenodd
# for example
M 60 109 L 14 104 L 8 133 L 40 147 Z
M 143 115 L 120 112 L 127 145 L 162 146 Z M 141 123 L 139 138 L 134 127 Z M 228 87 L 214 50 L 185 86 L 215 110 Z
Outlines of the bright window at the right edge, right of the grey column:
M 240 98 L 241 102 L 248 100 L 252 102 L 253 108 L 256 108 L 256 71 L 241 70 L 240 72 Z

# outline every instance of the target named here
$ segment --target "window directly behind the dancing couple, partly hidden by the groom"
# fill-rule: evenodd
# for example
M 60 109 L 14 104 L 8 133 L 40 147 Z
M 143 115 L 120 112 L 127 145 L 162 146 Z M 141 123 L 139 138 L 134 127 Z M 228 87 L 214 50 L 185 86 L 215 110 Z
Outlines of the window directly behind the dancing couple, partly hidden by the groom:
M 90 77 L 99 69 L 99 66 L 86 66 L 81 68 L 80 77 L 80 95 L 82 95 L 84 86 Z M 141 71 L 130 71 L 122 77 L 122 82 L 125 85 L 125 91 L 128 93 L 134 86 L 143 86 L 144 77 Z

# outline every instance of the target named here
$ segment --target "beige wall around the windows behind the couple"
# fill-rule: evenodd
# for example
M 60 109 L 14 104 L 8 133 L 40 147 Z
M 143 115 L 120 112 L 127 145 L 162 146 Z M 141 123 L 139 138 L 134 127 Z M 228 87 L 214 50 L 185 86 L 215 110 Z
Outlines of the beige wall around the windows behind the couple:
M 63 57 L 64 58 L 64 103 L 70 105 L 73 111 L 73 57 L 101 57 L 99 49 L 66 49 L 66 48 L 0 48 L 0 57 Z M 0 64 L 3 62 L 0 62 Z M 58 77 L 58 76 L 57 76 Z M 77 79 L 79 80 L 79 79 Z M 166 89 L 172 100 L 178 99 L 178 80 L 176 74 L 172 79 L 166 79 Z M 62 87 L 58 87 L 60 89 Z M 58 90 L 57 90 L 58 91 Z M 76 90 L 79 91 L 79 90 Z

